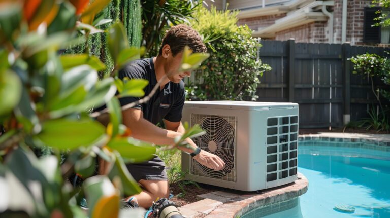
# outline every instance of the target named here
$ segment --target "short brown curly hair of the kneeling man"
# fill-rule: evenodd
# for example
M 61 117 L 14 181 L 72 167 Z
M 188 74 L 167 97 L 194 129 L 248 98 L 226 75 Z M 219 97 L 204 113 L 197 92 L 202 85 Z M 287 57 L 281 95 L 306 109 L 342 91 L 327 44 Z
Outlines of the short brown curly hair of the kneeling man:
M 202 42 L 199 33 L 185 24 L 171 27 L 161 43 L 158 55 L 163 54 L 163 46 L 168 44 L 171 47 L 173 56 L 184 50 L 184 46 L 189 46 L 193 53 L 205 53 L 207 48 Z

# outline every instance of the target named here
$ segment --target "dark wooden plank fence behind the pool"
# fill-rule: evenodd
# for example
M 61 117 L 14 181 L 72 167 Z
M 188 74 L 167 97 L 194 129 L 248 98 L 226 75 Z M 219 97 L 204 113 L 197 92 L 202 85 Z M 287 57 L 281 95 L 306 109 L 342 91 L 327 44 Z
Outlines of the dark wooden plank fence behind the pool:
M 387 56 L 385 49 L 294 40 L 261 44 L 259 58 L 272 71 L 260 78 L 258 101 L 299 103 L 301 128 L 341 127 L 368 117 L 368 108 L 376 107 L 369 78 L 352 74 L 348 58 L 366 52 Z M 378 78 L 374 84 L 384 88 Z

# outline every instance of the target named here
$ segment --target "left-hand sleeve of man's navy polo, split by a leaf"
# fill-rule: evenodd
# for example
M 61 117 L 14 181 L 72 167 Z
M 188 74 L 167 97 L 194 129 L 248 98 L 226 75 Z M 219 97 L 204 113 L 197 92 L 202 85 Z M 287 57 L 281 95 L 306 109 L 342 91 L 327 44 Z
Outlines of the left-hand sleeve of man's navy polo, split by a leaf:
M 137 66 L 134 65 L 127 65 L 123 69 L 121 69 L 118 73 L 119 79 L 123 80 L 124 78 L 129 78 L 129 79 L 145 79 L 142 77 L 142 69 L 138 68 Z M 124 106 L 129 103 L 133 103 L 135 101 L 140 100 L 140 97 L 122 97 L 119 98 L 119 103 L 121 106 Z M 136 108 L 139 110 L 142 110 L 142 104 L 137 104 L 133 106 L 132 108 Z

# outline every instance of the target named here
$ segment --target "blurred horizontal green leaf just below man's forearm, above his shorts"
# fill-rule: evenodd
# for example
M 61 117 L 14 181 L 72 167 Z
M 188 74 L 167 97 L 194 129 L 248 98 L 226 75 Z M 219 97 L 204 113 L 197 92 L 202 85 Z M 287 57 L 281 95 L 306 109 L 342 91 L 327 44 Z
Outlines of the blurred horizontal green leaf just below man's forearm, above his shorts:
M 150 160 L 156 153 L 156 147 L 151 143 L 140 141 L 131 137 L 112 138 L 108 147 L 120 153 L 128 162 L 136 163 Z

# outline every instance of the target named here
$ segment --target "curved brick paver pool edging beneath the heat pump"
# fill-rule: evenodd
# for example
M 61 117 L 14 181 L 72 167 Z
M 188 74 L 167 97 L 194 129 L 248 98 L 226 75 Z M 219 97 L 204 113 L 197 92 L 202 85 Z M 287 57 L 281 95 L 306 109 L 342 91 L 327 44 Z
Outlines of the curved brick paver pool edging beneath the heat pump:
M 198 195 L 203 200 L 184 205 L 179 210 L 188 218 L 234 218 L 258 207 L 297 198 L 306 193 L 308 185 L 306 177 L 298 173 L 294 183 L 263 190 L 261 193 L 233 190 Z

